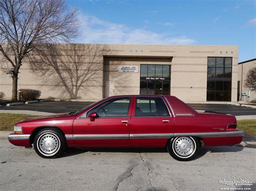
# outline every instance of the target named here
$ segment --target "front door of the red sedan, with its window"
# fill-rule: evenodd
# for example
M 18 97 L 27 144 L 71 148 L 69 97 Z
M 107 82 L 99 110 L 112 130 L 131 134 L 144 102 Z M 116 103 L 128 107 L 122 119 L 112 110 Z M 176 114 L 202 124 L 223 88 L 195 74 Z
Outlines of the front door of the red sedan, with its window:
M 129 146 L 131 100 L 131 96 L 111 98 L 75 119 L 75 144 L 85 147 Z M 88 116 L 95 112 L 98 117 L 91 121 Z

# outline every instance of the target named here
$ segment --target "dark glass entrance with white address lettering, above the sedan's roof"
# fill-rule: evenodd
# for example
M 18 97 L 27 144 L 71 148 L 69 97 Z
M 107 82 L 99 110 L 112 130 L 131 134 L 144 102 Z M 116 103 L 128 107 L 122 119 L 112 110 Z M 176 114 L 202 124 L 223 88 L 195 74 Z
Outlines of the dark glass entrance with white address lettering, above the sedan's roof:
M 140 65 L 141 95 L 170 95 L 170 65 Z

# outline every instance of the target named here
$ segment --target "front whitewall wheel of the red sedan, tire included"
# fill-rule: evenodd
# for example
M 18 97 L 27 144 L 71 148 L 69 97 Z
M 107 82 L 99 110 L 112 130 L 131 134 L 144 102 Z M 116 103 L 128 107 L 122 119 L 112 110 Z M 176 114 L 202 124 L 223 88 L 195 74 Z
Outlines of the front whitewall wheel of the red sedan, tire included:
M 65 137 L 58 129 L 42 129 L 34 139 L 34 148 L 40 157 L 56 158 L 65 151 Z

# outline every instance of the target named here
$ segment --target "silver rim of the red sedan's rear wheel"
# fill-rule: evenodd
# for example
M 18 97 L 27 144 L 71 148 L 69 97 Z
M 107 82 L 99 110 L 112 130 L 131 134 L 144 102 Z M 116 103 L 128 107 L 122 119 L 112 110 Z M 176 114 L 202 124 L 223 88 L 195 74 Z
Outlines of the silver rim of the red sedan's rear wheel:
M 196 143 L 191 137 L 177 137 L 173 142 L 173 148 L 178 157 L 188 158 L 196 151 Z

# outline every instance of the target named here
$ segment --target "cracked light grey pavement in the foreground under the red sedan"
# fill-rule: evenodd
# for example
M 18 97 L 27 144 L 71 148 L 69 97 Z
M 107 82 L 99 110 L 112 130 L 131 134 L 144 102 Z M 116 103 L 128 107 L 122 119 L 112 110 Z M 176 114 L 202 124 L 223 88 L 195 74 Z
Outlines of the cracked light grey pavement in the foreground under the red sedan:
M 255 148 L 202 147 L 181 162 L 164 149 L 69 149 L 43 159 L 0 140 L 1 190 L 220 190 L 227 176 L 255 182 Z M 239 187 L 239 186 L 233 186 Z M 248 186 L 240 186 L 248 187 Z M 255 190 L 255 184 L 251 190 Z

